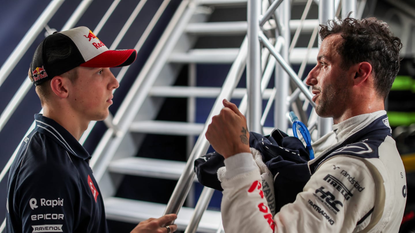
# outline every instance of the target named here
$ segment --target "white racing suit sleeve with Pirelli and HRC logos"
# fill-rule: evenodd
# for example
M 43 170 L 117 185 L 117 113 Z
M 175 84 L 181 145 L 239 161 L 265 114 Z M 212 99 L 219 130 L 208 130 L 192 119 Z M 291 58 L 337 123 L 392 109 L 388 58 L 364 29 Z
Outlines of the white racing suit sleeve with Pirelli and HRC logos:
M 252 164 L 252 156 L 239 156 Z M 235 168 L 227 163 L 227 171 Z M 322 163 L 303 192 L 274 217 L 264 199 L 257 169 L 227 176 L 222 187 L 226 233 L 351 233 L 364 216 L 370 218 L 375 197 L 375 183 L 368 167 L 361 159 L 348 155 L 337 155 Z

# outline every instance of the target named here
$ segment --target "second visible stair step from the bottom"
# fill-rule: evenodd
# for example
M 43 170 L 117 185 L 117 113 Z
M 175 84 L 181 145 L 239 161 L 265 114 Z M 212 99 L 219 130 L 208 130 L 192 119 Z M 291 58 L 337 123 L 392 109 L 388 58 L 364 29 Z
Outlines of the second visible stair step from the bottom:
M 186 162 L 181 161 L 130 157 L 112 161 L 108 169 L 110 172 L 124 175 L 178 180 L 185 166 Z M 197 181 L 196 177 L 195 181 Z

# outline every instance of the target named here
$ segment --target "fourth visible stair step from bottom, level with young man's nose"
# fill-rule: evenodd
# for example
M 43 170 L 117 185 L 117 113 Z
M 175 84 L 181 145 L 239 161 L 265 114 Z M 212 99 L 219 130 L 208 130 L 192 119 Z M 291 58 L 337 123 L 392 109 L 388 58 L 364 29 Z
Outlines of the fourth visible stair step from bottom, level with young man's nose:
M 149 95 L 153 97 L 197 97 L 216 98 L 221 87 L 188 87 L 188 86 L 154 86 Z M 236 88 L 232 98 L 241 99 L 246 94 L 245 88 Z M 262 95 L 263 99 L 269 99 L 272 89 L 266 89 Z

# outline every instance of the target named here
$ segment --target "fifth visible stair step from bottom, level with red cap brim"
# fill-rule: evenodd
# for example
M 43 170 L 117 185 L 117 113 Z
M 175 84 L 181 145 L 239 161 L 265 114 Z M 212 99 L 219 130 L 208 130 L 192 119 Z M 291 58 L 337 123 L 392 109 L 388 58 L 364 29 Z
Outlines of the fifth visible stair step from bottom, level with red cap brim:
M 234 49 L 190 49 L 187 53 L 173 52 L 169 58 L 173 63 L 233 63 L 239 48 Z M 303 62 L 307 48 L 294 48 L 290 55 L 290 62 L 300 64 Z M 307 63 L 315 64 L 318 54 L 317 48 L 312 48 Z

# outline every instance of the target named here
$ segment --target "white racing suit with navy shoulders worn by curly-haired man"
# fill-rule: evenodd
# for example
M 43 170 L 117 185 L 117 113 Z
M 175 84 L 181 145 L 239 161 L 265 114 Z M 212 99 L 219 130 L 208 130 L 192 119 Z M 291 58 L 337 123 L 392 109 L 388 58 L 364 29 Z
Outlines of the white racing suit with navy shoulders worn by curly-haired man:
M 303 192 L 275 216 L 267 208 L 252 155 L 227 158 L 221 205 L 225 232 L 398 232 L 406 179 L 386 112 L 355 116 L 333 129 L 334 145 L 325 150 L 327 142 L 313 145 L 316 158 L 308 163 L 312 175 Z M 327 138 L 334 137 L 322 140 Z

